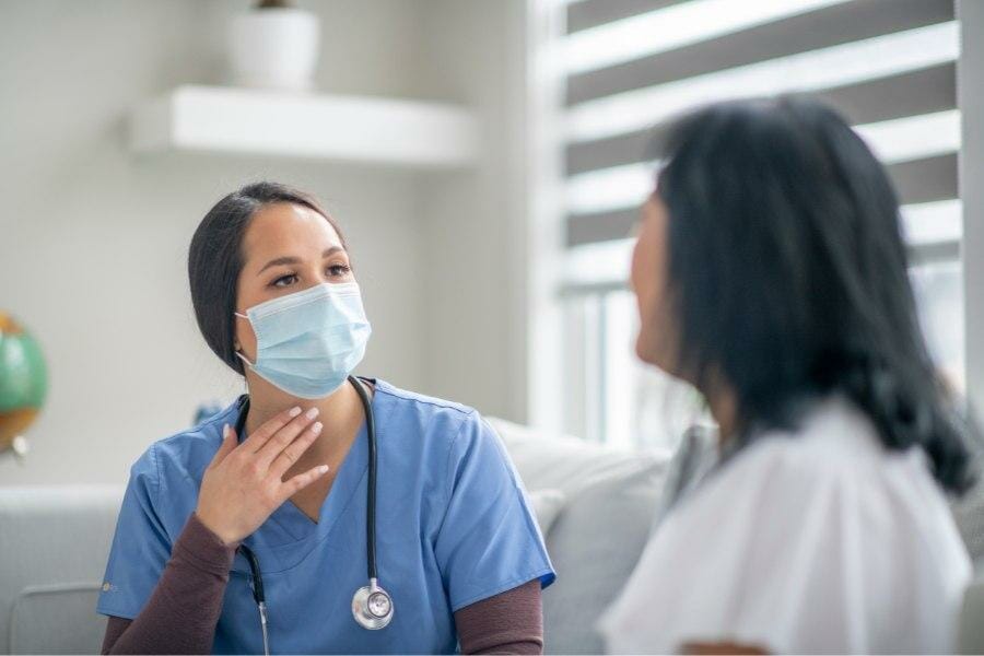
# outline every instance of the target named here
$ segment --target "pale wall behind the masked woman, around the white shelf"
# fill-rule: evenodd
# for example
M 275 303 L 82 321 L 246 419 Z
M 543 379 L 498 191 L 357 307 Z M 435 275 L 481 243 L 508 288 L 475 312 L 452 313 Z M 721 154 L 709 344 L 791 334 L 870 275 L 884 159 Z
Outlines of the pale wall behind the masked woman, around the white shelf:
M 323 19 L 323 90 L 472 103 L 494 145 L 479 167 L 134 157 L 127 110 L 221 82 L 223 25 L 245 3 L 0 2 L 0 308 L 50 368 L 33 450 L 24 466 L 0 456 L 0 484 L 122 482 L 200 401 L 238 393 L 195 326 L 185 258 L 208 208 L 258 178 L 315 192 L 345 229 L 375 329 L 362 372 L 522 419 L 515 34 L 500 32 L 522 0 L 302 4 Z

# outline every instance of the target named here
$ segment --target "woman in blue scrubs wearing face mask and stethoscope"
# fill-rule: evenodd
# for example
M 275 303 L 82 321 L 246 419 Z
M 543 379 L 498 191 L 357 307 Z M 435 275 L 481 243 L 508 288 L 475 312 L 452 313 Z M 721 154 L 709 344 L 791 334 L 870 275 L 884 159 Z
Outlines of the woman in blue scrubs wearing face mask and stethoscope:
M 555 575 L 516 470 L 475 410 L 347 379 L 371 329 L 327 212 L 248 185 L 204 216 L 188 272 L 201 332 L 248 397 L 132 466 L 97 605 L 103 653 L 263 653 L 249 554 L 271 653 L 540 653 Z M 376 630 L 352 609 L 367 584 L 356 385 L 394 608 Z

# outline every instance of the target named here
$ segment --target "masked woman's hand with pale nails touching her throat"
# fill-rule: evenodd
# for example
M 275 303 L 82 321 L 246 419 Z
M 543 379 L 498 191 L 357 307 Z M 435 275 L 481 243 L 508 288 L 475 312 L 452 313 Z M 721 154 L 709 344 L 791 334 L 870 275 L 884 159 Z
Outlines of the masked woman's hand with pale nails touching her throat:
M 314 421 L 317 413 L 317 408 L 304 414 L 301 408 L 284 410 L 243 444 L 237 444 L 232 426 L 223 427 L 222 446 L 204 471 L 195 509 L 206 528 L 226 544 L 238 542 L 295 492 L 328 471 L 327 465 L 319 465 L 282 480 L 321 432 L 321 422 Z

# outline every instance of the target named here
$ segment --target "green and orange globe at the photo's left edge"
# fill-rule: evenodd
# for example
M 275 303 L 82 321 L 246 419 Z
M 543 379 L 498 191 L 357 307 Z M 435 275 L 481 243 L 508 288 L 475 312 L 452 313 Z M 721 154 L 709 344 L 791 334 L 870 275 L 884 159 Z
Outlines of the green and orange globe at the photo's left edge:
M 0 312 L 0 452 L 34 423 L 47 391 L 40 347 L 13 317 Z

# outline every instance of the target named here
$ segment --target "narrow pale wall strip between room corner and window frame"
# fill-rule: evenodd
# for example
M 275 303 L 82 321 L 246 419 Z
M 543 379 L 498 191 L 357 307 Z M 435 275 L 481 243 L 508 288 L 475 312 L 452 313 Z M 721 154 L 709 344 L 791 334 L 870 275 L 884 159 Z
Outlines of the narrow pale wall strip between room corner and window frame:
M 427 94 L 481 119 L 473 174 L 423 197 L 429 389 L 487 414 L 527 417 L 525 2 L 433 0 Z

